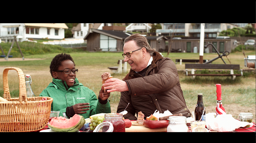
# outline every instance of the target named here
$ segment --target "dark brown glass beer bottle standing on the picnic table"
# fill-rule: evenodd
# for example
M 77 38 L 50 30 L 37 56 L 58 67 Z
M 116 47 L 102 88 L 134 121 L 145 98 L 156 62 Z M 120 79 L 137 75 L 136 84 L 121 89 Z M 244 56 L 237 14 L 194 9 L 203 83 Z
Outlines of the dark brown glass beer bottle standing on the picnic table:
M 203 106 L 203 94 L 198 94 L 197 95 L 197 105 L 195 109 L 195 120 L 198 121 L 200 120 L 203 110 L 205 109 L 205 106 Z M 202 121 L 205 121 L 205 113 L 203 113 Z

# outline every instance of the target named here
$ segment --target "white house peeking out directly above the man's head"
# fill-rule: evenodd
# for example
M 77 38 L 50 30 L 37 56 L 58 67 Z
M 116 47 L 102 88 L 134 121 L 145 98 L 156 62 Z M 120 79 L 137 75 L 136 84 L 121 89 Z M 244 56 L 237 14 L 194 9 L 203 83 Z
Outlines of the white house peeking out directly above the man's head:
M 131 23 L 126 28 L 126 32 L 149 32 L 149 30 L 152 28 L 149 23 Z

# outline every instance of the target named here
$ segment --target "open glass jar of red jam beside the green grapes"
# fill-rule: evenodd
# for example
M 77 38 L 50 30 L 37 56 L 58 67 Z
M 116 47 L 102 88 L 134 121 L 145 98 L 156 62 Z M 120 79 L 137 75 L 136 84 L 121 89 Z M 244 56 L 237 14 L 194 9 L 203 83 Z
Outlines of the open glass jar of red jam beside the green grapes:
M 113 124 L 113 132 L 125 132 L 125 121 L 123 114 L 120 113 L 107 113 L 104 116 L 104 121 L 109 121 Z

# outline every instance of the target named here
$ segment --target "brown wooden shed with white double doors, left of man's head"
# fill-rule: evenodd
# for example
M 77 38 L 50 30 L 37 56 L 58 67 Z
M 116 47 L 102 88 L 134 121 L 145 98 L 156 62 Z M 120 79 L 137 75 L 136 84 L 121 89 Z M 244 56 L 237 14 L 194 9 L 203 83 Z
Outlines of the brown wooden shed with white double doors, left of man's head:
M 90 29 L 84 40 L 87 40 L 87 51 L 120 52 L 129 35 L 127 32 Z

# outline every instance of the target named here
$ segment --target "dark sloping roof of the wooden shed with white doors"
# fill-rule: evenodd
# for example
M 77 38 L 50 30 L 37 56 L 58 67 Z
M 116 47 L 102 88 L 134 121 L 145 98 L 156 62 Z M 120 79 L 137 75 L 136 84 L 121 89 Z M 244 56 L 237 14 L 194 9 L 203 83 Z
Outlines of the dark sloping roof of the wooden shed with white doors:
M 119 39 L 119 40 L 124 40 L 125 38 L 127 38 L 129 35 L 131 35 L 131 33 L 128 32 L 120 32 L 120 31 L 110 31 L 110 30 L 97 30 L 97 29 L 92 29 L 92 32 L 95 33 L 99 33 L 99 34 L 103 34 L 103 35 L 107 35 L 109 37 L 115 38 L 115 39 Z M 84 40 L 87 39 L 87 37 L 90 35 L 89 32 L 85 37 Z

